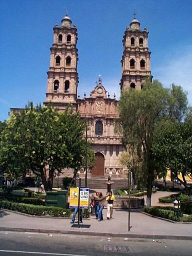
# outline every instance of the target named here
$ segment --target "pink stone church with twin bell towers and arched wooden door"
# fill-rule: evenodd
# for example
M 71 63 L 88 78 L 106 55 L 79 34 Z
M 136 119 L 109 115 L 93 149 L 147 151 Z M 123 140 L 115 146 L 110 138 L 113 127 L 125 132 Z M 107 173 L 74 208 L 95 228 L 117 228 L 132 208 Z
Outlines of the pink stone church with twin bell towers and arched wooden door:
M 88 176 L 126 178 L 126 172 L 118 162 L 123 146 L 121 136 L 114 132 L 114 123 L 118 118 L 116 96 L 110 98 L 102 79 L 89 95 L 83 98 L 77 95 L 78 88 L 78 49 L 77 28 L 72 26 L 69 16 L 53 28 L 54 42 L 50 48 L 50 68 L 47 72 L 48 83 L 46 100 L 60 111 L 65 110 L 69 103 L 74 111 L 79 111 L 82 118 L 88 120 L 88 141 L 95 152 L 96 164 L 88 170 Z M 123 36 L 122 77 L 120 90 L 132 88 L 142 89 L 142 84 L 150 76 L 150 52 L 148 49 L 148 31 L 140 29 L 139 21 L 134 18 L 126 28 Z M 118 85 L 117 85 L 118 86 Z M 72 170 L 68 170 L 72 173 Z M 84 176 L 84 170 L 81 172 Z

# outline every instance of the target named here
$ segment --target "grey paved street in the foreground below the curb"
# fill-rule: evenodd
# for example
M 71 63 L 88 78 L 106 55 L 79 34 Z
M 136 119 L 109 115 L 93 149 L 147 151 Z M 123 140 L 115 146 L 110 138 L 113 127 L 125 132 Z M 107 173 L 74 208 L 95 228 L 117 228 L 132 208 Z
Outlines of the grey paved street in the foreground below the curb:
M 189 256 L 191 241 L 0 232 L 1 256 Z

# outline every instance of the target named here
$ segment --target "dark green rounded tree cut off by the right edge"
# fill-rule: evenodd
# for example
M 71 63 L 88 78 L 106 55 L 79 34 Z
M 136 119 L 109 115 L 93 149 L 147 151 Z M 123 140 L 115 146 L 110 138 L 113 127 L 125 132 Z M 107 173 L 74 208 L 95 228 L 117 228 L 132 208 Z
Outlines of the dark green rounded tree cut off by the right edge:
M 168 124 L 154 135 L 152 151 L 157 164 L 182 174 L 183 180 L 178 180 L 185 186 L 186 193 L 192 200 L 185 179 L 186 175 L 192 178 L 192 124 Z

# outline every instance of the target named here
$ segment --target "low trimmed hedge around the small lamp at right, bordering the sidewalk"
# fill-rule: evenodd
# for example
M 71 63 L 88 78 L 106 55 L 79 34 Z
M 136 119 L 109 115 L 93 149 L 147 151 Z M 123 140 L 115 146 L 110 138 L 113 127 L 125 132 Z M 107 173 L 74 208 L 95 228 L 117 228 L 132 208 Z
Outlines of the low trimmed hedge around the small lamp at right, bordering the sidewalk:
M 174 221 L 178 220 L 177 216 L 176 216 L 176 214 L 174 213 L 173 210 L 164 210 L 164 209 L 162 209 L 162 207 L 160 208 L 160 206 L 157 206 L 157 207 L 147 207 L 147 206 L 145 206 L 143 208 L 143 211 L 148 213 L 148 214 L 158 216 L 158 217 L 161 217 L 161 218 L 165 218 L 165 219 L 168 219 L 168 220 L 174 220 Z M 187 217 L 180 217 L 179 220 L 183 221 L 183 222 L 192 222 L 192 215 L 189 215 Z

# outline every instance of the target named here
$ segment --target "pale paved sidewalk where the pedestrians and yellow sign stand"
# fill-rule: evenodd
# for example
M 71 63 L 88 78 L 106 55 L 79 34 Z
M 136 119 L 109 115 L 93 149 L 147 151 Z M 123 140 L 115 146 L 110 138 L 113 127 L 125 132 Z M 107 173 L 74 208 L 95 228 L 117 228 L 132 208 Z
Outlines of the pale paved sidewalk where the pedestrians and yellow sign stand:
M 128 232 L 127 210 L 114 210 L 113 219 L 106 220 L 104 209 L 103 221 L 98 222 L 91 216 L 83 220 L 81 228 L 73 227 L 69 218 L 33 217 L 0 210 L 0 230 L 6 231 L 192 240 L 192 224 L 167 222 L 142 214 L 140 210 L 131 212 L 130 226 L 132 228 Z

